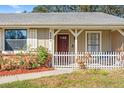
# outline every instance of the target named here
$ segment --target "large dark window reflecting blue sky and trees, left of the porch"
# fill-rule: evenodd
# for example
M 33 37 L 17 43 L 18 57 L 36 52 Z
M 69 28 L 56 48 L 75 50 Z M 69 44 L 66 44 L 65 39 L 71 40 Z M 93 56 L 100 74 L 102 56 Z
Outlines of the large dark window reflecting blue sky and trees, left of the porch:
M 6 29 L 5 30 L 5 50 L 26 50 L 27 30 L 26 29 Z

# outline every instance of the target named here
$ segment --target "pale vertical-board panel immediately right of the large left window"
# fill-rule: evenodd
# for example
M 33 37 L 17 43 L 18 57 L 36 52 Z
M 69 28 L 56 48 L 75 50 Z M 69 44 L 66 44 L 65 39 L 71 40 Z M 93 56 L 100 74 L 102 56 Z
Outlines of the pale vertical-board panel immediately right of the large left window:
M 28 49 L 37 48 L 37 29 L 29 29 L 27 32 Z

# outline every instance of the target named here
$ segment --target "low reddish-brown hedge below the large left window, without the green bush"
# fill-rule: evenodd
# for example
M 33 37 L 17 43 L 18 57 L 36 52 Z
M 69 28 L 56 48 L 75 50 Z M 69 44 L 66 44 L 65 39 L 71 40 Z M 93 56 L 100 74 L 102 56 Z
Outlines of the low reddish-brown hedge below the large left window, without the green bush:
M 37 55 L 18 54 L 3 59 L 0 57 L 0 70 L 34 69 L 39 65 Z

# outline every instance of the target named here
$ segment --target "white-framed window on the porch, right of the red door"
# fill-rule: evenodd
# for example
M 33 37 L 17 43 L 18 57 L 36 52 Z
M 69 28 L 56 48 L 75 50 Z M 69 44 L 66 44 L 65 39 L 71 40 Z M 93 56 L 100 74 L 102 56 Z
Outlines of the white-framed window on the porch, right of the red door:
M 88 52 L 100 51 L 100 33 L 99 32 L 87 33 L 87 51 Z

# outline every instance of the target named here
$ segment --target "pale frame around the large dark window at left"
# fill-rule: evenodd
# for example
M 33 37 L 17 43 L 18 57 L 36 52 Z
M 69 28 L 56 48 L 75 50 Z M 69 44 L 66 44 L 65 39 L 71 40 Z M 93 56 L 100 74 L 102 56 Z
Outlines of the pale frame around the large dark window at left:
M 15 52 L 16 52 L 16 51 L 20 51 L 20 50 L 18 50 L 18 49 L 14 49 L 14 50 L 6 50 L 6 49 L 5 49 L 5 46 L 6 46 L 5 40 L 6 40 L 6 31 L 7 31 L 7 30 L 25 30 L 25 31 L 26 31 L 26 39 L 25 39 L 25 40 L 26 40 L 26 45 L 27 45 L 28 29 L 24 29 L 24 28 L 22 28 L 22 29 L 21 29 L 21 28 L 19 28 L 19 29 L 18 29 L 18 28 L 17 28 L 17 29 L 14 29 L 14 28 L 4 29 L 4 40 L 3 40 L 3 42 L 4 42 L 4 51 L 10 51 L 10 52 L 11 52 L 11 51 L 15 51 Z M 27 48 L 26 48 L 25 50 L 23 50 L 23 51 L 27 51 Z

